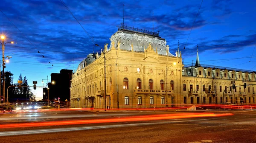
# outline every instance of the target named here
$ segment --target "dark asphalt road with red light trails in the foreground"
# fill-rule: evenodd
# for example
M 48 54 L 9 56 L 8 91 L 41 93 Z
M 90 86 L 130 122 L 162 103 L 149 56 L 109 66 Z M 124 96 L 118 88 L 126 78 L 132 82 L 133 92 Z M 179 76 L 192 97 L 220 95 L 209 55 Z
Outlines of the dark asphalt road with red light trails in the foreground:
M 221 117 L 148 121 L 117 119 L 190 113 L 232 113 Z M 37 112 L 0 114 L 0 126 L 13 123 L 104 120 L 108 123 L 0 128 L 1 143 L 256 143 L 256 111 L 221 112 Z M 113 121 L 113 122 L 112 122 Z M 35 134 L 36 133 L 36 134 Z M 5 134 L 5 135 L 4 135 Z M 20 135 L 19 135 L 20 134 Z M 11 135 L 11 136 L 10 136 Z

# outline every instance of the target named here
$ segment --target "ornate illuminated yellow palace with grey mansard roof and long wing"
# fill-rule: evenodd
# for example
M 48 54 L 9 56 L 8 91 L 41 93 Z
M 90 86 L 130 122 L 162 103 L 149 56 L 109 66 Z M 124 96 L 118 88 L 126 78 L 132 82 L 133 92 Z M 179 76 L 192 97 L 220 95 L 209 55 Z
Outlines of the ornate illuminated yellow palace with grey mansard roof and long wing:
M 198 52 L 195 65 L 183 65 L 179 47 L 173 55 L 158 33 L 124 25 L 110 41 L 100 54 L 89 54 L 73 73 L 71 107 L 255 104 L 254 85 L 243 87 L 256 84 L 253 71 L 200 64 Z

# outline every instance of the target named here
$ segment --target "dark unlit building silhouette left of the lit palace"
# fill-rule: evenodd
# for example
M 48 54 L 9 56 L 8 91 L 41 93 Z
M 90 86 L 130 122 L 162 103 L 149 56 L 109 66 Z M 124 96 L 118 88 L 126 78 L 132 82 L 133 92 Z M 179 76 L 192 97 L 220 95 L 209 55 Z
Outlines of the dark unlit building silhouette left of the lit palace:
M 51 82 L 49 82 L 49 101 L 58 100 L 61 102 L 70 101 L 70 85 L 73 70 L 60 70 L 60 73 L 51 74 Z M 53 83 L 54 82 L 54 83 Z M 47 89 L 46 89 L 47 92 Z M 47 93 L 45 94 L 47 95 Z M 46 97 L 47 98 L 47 97 Z

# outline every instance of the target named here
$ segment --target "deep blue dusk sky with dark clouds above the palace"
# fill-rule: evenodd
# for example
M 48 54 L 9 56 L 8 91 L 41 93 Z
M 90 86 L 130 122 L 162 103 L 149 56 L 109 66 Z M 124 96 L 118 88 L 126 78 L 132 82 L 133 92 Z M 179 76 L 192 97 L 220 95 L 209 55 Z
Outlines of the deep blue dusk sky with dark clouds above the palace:
M 195 63 L 198 44 L 201 64 L 256 71 L 255 0 L 204 0 L 202 5 L 202 0 L 63 1 L 94 43 L 60 0 L 1 0 L 0 33 L 15 42 L 6 44 L 5 56 L 12 58 L 5 70 L 14 74 L 14 83 L 20 73 L 26 76 L 32 92 L 32 81 L 43 86 L 51 73 L 76 70 L 94 44 L 110 43 L 123 22 L 123 3 L 127 26 L 152 31 L 154 12 L 154 31 L 173 55 L 179 40 L 184 64 Z M 94 46 L 96 51 L 100 48 Z M 35 94 L 42 99 L 42 88 Z

